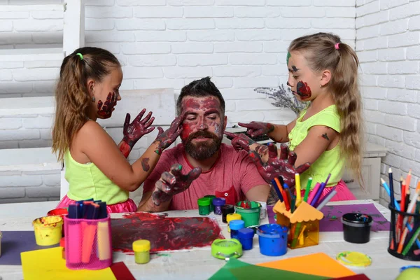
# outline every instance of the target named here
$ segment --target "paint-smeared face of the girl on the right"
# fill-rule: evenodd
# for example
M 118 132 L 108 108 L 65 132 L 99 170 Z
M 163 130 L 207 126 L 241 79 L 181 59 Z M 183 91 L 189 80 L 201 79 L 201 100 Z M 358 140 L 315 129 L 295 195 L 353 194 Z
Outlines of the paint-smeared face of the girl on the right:
M 306 59 L 299 52 L 291 52 L 288 53 L 286 62 L 289 72 L 287 85 L 290 90 L 302 101 L 311 100 L 312 90 L 319 87 L 319 80 L 307 66 Z

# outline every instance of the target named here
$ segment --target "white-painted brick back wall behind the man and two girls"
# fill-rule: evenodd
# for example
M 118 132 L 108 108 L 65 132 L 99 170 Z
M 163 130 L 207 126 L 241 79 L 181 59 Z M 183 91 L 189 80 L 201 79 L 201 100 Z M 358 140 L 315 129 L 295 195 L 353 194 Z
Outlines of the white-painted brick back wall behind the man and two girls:
M 9 4 L 60 3 L 60 0 L 9 0 Z M 0 2 L 3 3 L 3 2 Z M 284 123 L 279 111 L 255 87 L 286 85 L 286 48 L 293 38 L 334 31 L 355 45 L 355 0 L 87 0 L 87 45 L 111 50 L 123 62 L 123 89 L 173 87 L 211 76 L 240 120 L 255 111 L 258 120 Z M 304 8 L 302 8 L 304 7 Z M 293 20 L 292 20 L 293 19 Z M 0 14 L 0 48 L 57 46 L 62 43 L 59 13 L 22 11 Z M 4 38 L 4 40 L 3 40 Z M 0 65 L 1 96 L 50 95 L 59 62 Z M 42 67 L 42 69 L 41 69 Z M 235 93 L 234 93 L 235 92 Z

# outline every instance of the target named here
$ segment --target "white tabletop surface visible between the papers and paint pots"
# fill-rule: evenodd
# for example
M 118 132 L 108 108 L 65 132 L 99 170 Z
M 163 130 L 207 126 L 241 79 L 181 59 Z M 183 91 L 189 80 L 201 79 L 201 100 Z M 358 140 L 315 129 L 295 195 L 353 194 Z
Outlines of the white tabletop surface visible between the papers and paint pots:
M 330 202 L 334 204 L 358 204 L 374 203 L 377 209 L 389 220 L 390 211 L 372 200 L 354 200 L 351 202 Z M 0 230 L 33 230 L 31 221 L 34 218 L 45 216 L 54 209 L 57 202 L 30 202 L 20 204 L 0 204 Z M 167 211 L 169 216 L 199 216 L 197 211 Z M 113 214 L 116 218 L 121 214 Z M 222 223 L 221 216 L 216 219 L 223 229 L 223 235 L 230 238 L 226 225 Z M 267 223 L 267 221 L 262 221 Z M 400 267 L 404 265 L 419 265 L 418 262 L 408 262 L 393 257 L 386 251 L 388 246 L 388 231 L 371 232 L 370 242 L 367 244 L 351 244 L 343 239 L 342 232 L 321 232 L 320 244 L 295 250 L 288 249 L 286 255 L 280 257 L 268 257 L 261 255 L 258 248 L 258 237 L 254 237 L 254 248 L 244 251 L 239 258 L 244 262 L 258 264 L 272 260 L 290 258 L 309 253 L 323 252 L 335 258 L 342 251 L 359 251 L 370 255 L 372 265 L 365 268 L 351 268 L 356 273 L 365 273 L 370 279 L 395 279 L 399 274 Z M 1 257 L 0 257 L 1 258 Z M 225 265 L 224 260 L 218 260 L 211 256 L 210 247 L 197 248 L 190 251 L 169 252 L 167 255 L 153 255 L 151 262 L 146 265 L 137 265 L 134 256 L 124 253 L 113 253 L 114 262 L 124 261 L 136 279 L 208 279 L 218 269 Z M 23 279 L 22 267 L 13 265 L 0 265 L 2 280 Z

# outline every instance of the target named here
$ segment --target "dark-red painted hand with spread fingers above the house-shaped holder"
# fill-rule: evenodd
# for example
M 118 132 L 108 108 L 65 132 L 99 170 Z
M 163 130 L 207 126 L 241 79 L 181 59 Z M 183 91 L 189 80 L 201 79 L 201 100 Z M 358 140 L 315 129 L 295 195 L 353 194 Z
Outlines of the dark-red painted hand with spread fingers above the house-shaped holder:
M 305 172 L 310 166 L 309 162 L 295 167 L 297 155 L 295 152 L 289 151 L 287 145 L 281 144 L 280 158 L 277 158 L 277 147 L 274 144 L 269 143 L 267 146 L 269 158 L 265 163 L 262 162 L 256 151 L 249 153 L 262 178 L 267 183 L 271 183 L 272 179 L 281 176 L 290 188 L 295 186 L 295 174 Z

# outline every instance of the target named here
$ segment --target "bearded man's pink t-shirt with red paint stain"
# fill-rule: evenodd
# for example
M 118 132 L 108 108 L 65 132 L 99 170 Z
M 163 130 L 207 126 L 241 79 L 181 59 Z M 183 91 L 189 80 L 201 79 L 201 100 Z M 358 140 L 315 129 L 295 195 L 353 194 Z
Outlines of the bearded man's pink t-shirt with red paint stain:
M 164 153 L 155 169 L 144 182 L 143 193 L 152 191 L 160 175 L 171 169 L 175 163 L 182 165 L 182 173 L 188 174 L 193 169 L 186 158 L 183 144 L 179 144 Z M 232 146 L 221 144 L 219 156 L 214 166 L 203 172 L 191 183 L 190 188 L 174 195 L 169 205 L 170 210 L 198 209 L 197 200 L 204 195 L 216 195 L 226 199 L 226 204 L 235 204 L 244 200 L 244 194 L 251 188 L 267 185 L 256 169 L 248 153 L 236 152 Z

